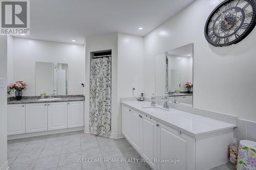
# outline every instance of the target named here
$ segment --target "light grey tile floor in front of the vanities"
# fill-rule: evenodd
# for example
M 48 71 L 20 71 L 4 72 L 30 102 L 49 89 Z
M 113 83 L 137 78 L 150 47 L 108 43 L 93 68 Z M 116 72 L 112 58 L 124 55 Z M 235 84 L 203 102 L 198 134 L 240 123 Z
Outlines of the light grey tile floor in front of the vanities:
M 141 158 L 126 139 L 111 139 L 82 131 L 8 140 L 10 169 L 150 170 L 146 163 L 78 163 L 78 158 Z M 224 164 L 212 170 L 233 170 Z

